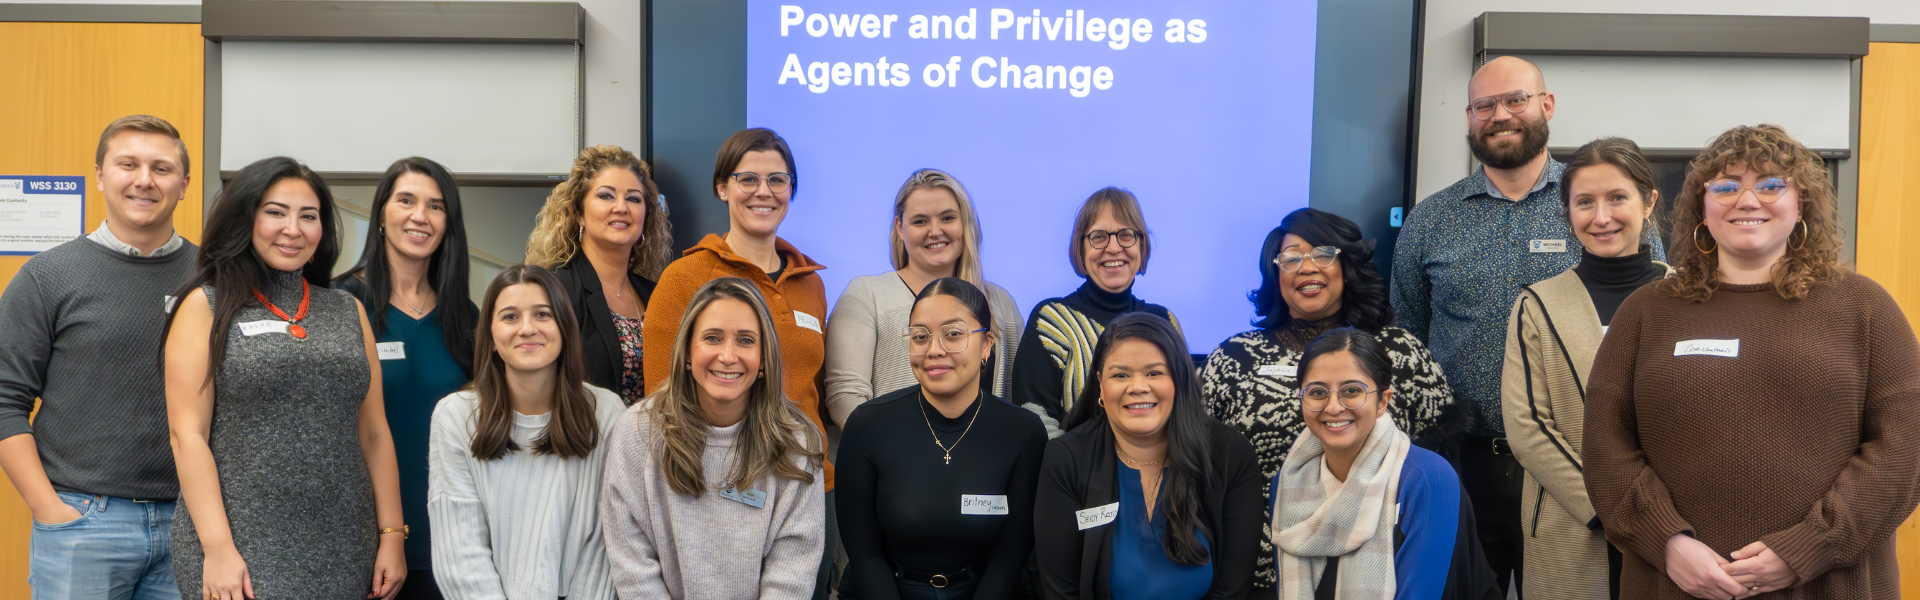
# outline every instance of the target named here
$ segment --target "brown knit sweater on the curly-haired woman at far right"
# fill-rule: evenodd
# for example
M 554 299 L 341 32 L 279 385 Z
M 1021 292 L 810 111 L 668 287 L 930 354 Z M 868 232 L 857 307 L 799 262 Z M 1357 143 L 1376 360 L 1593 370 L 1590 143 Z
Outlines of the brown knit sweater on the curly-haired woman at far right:
M 1799 585 L 1763 598 L 1897 598 L 1893 531 L 1920 502 L 1920 342 L 1901 308 L 1855 273 L 1801 300 L 1670 285 L 1620 304 L 1586 394 L 1586 488 L 1630 556 L 1620 598 L 1688 598 L 1665 571 L 1676 533 L 1722 556 L 1766 542 Z

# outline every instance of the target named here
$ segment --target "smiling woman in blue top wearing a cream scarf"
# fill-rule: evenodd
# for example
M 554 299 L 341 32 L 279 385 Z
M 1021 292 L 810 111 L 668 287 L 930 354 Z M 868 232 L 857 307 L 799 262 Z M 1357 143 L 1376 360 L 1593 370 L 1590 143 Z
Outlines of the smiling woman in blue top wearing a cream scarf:
M 1273 477 L 1281 600 L 1500 598 L 1473 510 L 1444 458 L 1386 408 L 1392 362 L 1340 327 L 1300 358 L 1302 435 Z

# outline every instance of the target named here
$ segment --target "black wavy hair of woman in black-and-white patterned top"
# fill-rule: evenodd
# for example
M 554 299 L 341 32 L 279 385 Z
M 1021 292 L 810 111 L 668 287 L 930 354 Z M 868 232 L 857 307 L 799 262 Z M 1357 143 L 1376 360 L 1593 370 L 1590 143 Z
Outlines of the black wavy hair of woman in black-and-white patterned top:
M 1246 292 L 1246 302 L 1254 304 L 1254 327 L 1281 329 L 1294 321 L 1286 310 L 1286 296 L 1281 294 L 1281 265 L 1273 263 L 1281 256 L 1286 235 L 1298 235 L 1311 246 L 1340 248 L 1340 313 L 1334 315 L 1344 327 L 1380 331 L 1394 323 L 1394 306 L 1386 300 L 1386 279 L 1380 267 L 1373 265 L 1373 240 L 1359 233 L 1359 225 L 1342 215 L 1302 208 L 1286 213 L 1281 227 L 1267 231 L 1267 240 L 1260 246 L 1260 288 Z

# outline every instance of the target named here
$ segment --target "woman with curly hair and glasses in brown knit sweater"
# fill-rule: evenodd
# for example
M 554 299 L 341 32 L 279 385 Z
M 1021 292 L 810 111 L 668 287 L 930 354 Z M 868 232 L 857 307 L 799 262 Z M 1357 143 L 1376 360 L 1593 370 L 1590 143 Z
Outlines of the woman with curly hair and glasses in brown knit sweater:
M 1620 598 L 1897 598 L 1920 500 L 1920 342 L 1839 265 L 1818 156 L 1722 133 L 1672 210 L 1678 273 L 1628 298 L 1594 362 L 1586 487 Z

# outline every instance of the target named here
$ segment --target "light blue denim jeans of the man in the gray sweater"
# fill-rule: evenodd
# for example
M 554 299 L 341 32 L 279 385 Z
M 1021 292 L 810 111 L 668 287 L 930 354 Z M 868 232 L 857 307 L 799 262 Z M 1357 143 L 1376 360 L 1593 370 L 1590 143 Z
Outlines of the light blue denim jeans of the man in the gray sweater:
M 173 581 L 175 502 L 60 492 L 79 519 L 33 523 L 35 600 L 180 600 Z

